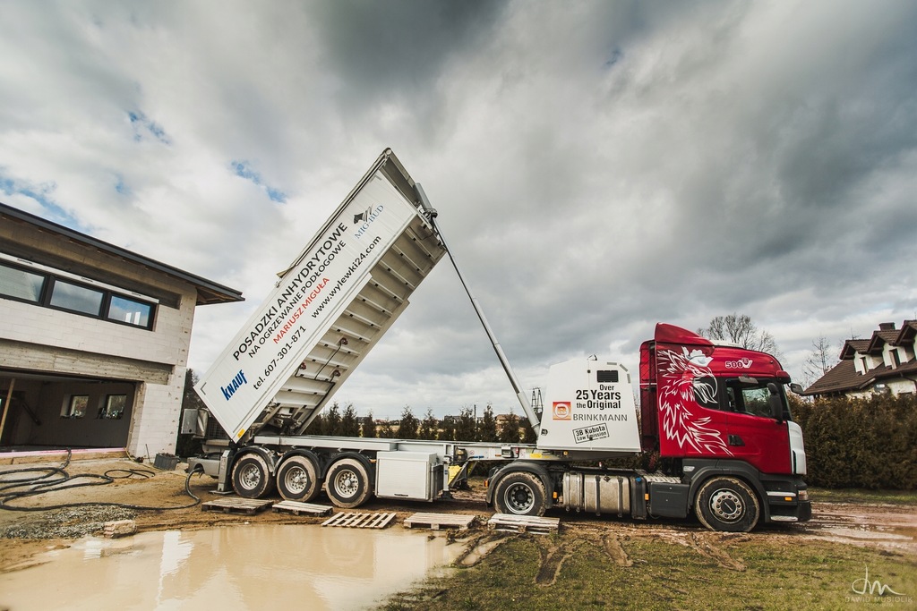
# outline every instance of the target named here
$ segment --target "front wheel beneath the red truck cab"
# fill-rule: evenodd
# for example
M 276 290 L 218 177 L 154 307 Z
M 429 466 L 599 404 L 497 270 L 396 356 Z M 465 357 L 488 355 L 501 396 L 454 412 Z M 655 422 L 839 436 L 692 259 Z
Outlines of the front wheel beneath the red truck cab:
M 761 515 L 755 491 L 735 477 L 713 477 L 703 483 L 694 513 L 711 530 L 748 532 Z

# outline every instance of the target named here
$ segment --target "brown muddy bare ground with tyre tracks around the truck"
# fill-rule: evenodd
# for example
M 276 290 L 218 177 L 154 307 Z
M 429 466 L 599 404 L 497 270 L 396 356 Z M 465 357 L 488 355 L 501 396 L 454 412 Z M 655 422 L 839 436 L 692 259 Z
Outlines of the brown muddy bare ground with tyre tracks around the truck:
M 48 464 L 0 466 L 0 488 L 13 480 L 43 475 L 43 472 L 9 474 L 11 469 L 47 467 Z M 136 509 L 115 507 L 108 504 L 129 504 L 146 507 L 182 507 L 193 503 L 185 493 L 186 475 L 183 464 L 175 471 L 160 471 L 149 464 L 136 464 L 128 460 L 74 461 L 67 467 L 67 473 L 75 479 L 65 486 L 75 484 L 100 484 L 98 486 L 72 487 L 67 490 L 49 492 L 41 496 L 29 496 L 8 500 L 7 507 L 50 507 L 79 503 L 77 507 L 61 507 L 43 511 L 17 511 L 0 508 L 0 572 L 16 571 L 41 562 L 39 554 L 50 549 L 66 547 L 83 534 L 100 534 L 105 521 L 130 518 L 136 520 L 139 531 L 165 529 L 204 529 L 220 526 L 234 526 L 247 523 L 259 524 L 302 524 L 320 523 L 325 518 L 311 518 L 280 513 L 271 509 L 254 515 L 223 513 L 204 510 L 200 505 L 178 509 Z M 133 470 L 133 471 L 132 471 Z M 114 479 L 104 483 L 97 475 L 108 474 Z M 5 475 L 6 474 L 6 475 Z M 79 475 L 93 474 L 92 478 Z M 51 479 L 57 475 L 49 475 Z M 190 490 L 202 501 L 222 498 L 215 494 L 215 480 L 193 475 Z M 7 489 L 4 494 L 8 493 Z M 470 491 L 456 491 L 452 500 L 436 503 L 415 503 L 373 499 L 358 511 L 396 512 L 396 523 L 415 512 L 462 513 L 480 516 L 481 532 L 471 540 L 485 543 L 489 538 L 481 527 L 492 510 L 483 502 L 484 488 L 473 485 Z M 278 499 L 279 500 L 279 499 Z M 315 501 L 330 503 L 325 496 Z M 561 518 L 561 534 L 564 539 L 580 538 L 601 544 L 614 562 L 629 566 L 630 559 L 621 545 L 622 540 L 651 539 L 665 540 L 691 548 L 726 568 L 742 570 L 725 551 L 725 543 L 736 538 L 754 540 L 758 537 L 786 538 L 788 545 L 804 540 L 830 540 L 849 545 L 866 546 L 883 551 L 897 551 L 917 557 L 917 515 L 910 506 L 895 506 L 868 503 L 818 502 L 813 503 L 812 521 L 804 524 L 759 527 L 749 534 L 716 533 L 703 529 L 696 521 L 650 520 L 634 521 L 627 518 L 595 517 L 592 515 L 568 513 L 563 510 L 549 512 L 549 516 Z M 479 551 L 486 551 L 486 545 L 472 546 L 473 553 L 464 563 L 474 562 Z M 478 551 L 474 551 L 478 550 Z M 548 551 L 550 555 L 550 551 Z M 539 576 L 543 582 L 550 581 L 556 571 L 552 565 L 563 561 L 562 550 L 557 558 L 544 559 L 545 574 Z

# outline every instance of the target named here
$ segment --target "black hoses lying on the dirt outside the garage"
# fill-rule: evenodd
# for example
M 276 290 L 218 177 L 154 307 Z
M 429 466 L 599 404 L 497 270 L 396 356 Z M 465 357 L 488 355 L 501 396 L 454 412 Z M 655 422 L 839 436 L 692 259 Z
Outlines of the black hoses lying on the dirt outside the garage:
M 155 472 L 149 469 L 109 469 L 104 474 L 70 475 L 67 466 L 70 465 L 72 452 L 67 451 L 64 464 L 57 467 L 27 467 L 0 472 L 0 509 L 9 511 L 49 511 L 51 509 L 64 509 L 67 507 L 122 507 L 138 511 L 167 511 L 171 509 L 188 509 L 201 503 L 201 498 L 191 491 L 191 476 L 203 475 L 204 469 L 197 465 L 184 479 L 184 492 L 193 498 L 193 503 L 171 507 L 150 507 L 146 505 L 132 505 L 130 503 L 113 503 L 103 501 L 85 501 L 81 503 L 61 503 L 45 507 L 17 507 L 10 505 L 10 501 L 30 496 L 39 496 L 50 492 L 70 490 L 83 486 L 105 486 L 112 484 L 116 479 L 153 477 Z M 19 476 L 23 475 L 23 476 Z M 12 476 L 12 477 L 10 477 Z

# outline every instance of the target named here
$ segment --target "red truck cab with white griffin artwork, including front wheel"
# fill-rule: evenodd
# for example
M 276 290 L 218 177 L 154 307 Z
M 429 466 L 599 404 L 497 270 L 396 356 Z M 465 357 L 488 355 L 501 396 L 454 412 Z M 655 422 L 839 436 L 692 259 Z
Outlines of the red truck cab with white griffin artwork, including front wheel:
M 687 495 L 706 526 L 745 530 L 759 518 L 812 517 L 789 384 L 774 356 L 670 324 L 657 324 L 640 347 L 643 450 L 680 477 L 673 495 Z

